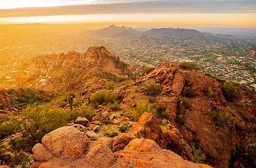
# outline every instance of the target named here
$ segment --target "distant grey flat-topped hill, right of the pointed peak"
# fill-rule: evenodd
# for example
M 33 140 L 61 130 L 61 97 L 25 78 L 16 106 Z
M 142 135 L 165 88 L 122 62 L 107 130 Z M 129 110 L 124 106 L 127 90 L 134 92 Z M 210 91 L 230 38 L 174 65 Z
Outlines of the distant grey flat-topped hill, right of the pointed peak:
M 145 31 L 142 36 L 161 38 L 161 37 L 179 37 L 179 38 L 194 38 L 194 37 L 204 37 L 204 33 L 196 31 L 194 29 L 173 29 L 173 28 L 160 28 L 151 29 L 150 31 Z

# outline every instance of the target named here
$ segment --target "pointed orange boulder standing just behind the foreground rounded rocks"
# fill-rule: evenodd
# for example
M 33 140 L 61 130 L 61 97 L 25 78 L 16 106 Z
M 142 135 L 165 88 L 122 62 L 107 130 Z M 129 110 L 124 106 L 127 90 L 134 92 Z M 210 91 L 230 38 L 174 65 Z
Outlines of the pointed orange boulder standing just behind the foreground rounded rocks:
M 159 126 L 159 120 L 152 113 L 144 112 L 139 121 L 134 125 L 134 135 L 138 138 L 152 139 L 156 141 L 161 148 L 166 148 L 167 141 Z

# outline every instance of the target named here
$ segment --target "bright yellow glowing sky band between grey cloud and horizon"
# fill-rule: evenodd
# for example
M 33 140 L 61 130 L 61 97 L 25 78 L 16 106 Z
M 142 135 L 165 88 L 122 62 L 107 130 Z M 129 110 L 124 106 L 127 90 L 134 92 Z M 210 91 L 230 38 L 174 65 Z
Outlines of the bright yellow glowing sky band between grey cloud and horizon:
M 152 26 L 256 26 L 256 13 L 132 13 L 0 18 L 2 24 L 130 24 Z

